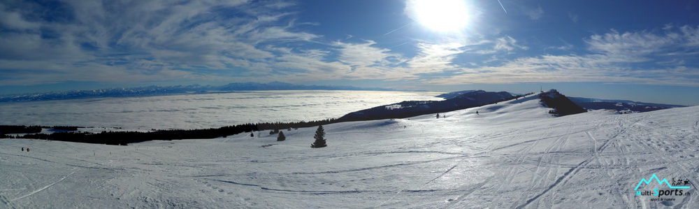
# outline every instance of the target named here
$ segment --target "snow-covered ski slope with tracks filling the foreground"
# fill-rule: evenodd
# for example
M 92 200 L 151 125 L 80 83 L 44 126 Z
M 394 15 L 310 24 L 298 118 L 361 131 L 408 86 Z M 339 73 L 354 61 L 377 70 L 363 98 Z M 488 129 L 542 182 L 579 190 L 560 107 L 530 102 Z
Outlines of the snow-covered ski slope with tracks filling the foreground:
M 548 110 L 531 96 L 440 119 L 330 124 L 317 149 L 315 128 L 283 130 L 281 142 L 1 139 L 0 208 L 699 208 L 699 106 Z M 687 179 L 693 194 L 635 196 L 653 174 Z

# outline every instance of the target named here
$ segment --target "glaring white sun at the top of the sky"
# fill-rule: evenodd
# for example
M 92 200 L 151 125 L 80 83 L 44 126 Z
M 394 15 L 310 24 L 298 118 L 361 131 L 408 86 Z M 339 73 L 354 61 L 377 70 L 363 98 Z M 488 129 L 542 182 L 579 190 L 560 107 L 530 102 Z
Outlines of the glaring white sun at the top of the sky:
M 413 20 L 434 31 L 459 31 L 470 22 L 465 0 L 410 0 L 406 9 Z

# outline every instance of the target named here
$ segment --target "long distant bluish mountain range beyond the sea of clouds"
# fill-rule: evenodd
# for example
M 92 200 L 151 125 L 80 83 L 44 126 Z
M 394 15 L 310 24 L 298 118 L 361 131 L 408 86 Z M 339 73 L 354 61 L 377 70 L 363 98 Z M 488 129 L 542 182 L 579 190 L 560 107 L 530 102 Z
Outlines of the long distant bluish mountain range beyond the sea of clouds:
M 352 86 L 294 85 L 285 82 L 232 82 L 227 85 L 174 85 L 147 86 L 133 88 L 110 88 L 93 90 L 75 90 L 67 92 L 46 92 L 34 94 L 0 95 L 0 102 L 8 101 L 47 101 L 61 99 L 86 99 L 97 97 L 159 96 L 172 94 L 206 94 L 234 91 L 268 91 L 268 90 L 356 90 L 356 91 L 397 91 L 396 89 L 363 88 Z

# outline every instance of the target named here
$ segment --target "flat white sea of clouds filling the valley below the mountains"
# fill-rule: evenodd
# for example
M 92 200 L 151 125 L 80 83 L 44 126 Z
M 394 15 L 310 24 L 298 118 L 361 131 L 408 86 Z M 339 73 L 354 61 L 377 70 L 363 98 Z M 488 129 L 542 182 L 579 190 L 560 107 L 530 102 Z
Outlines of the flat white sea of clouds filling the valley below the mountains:
M 437 92 L 266 91 L 0 103 L 0 124 L 203 129 L 324 120 Z

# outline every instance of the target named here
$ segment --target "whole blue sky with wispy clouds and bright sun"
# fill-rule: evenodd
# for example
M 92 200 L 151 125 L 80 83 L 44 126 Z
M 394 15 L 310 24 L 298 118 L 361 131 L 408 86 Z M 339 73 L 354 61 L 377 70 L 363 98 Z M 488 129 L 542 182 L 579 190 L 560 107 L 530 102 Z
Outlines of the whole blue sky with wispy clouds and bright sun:
M 291 82 L 699 105 L 697 1 L 2 1 L 0 94 Z

